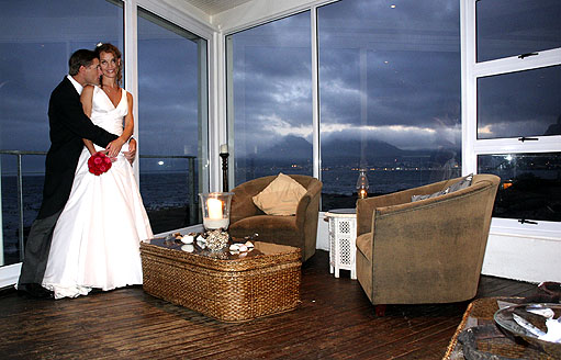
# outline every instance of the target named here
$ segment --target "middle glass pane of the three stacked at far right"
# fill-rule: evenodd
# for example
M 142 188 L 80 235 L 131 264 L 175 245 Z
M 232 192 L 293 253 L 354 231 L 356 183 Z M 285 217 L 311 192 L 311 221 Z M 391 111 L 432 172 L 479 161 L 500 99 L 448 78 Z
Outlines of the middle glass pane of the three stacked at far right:
M 561 66 L 478 79 L 478 138 L 561 135 Z

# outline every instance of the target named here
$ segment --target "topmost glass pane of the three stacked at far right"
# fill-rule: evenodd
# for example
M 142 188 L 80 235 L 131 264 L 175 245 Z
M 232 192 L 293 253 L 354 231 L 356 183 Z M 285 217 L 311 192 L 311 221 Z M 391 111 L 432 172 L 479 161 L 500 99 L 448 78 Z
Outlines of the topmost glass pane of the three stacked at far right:
M 561 47 L 561 1 L 475 2 L 478 61 Z

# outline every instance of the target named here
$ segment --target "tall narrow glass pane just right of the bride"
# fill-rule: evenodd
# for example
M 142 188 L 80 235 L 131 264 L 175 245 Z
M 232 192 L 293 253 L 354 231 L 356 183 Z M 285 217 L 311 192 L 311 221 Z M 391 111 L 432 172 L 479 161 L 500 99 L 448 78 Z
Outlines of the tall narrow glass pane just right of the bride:
M 154 234 L 198 223 L 207 138 L 206 41 L 138 9 L 141 193 Z

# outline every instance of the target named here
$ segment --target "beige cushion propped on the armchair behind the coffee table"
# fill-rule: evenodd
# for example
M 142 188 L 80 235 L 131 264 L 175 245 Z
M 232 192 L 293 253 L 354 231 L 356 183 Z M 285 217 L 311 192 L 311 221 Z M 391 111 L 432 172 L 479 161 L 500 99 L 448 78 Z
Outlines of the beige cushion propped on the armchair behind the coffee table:
M 294 215 L 306 189 L 296 180 L 280 172 L 277 179 L 255 195 L 254 203 L 267 215 Z

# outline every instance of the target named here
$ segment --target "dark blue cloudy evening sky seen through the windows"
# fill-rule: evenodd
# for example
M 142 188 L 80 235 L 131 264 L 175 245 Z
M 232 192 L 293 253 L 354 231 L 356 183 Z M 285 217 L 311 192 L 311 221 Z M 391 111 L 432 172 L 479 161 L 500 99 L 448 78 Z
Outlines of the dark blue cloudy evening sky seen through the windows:
M 478 2 L 481 13 L 509 14 L 480 19 L 482 56 L 560 46 L 558 0 L 513 1 L 506 9 L 505 1 Z M 458 3 L 345 0 L 318 9 L 323 142 L 459 146 Z M 0 0 L 0 148 L 46 150 L 48 97 L 69 55 L 99 41 L 122 48 L 122 10 L 103 0 L 88 5 Z M 198 155 L 197 44 L 144 19 L 138 25 L 141 149 Z M 233 35 L 236 156 L 288 135 L 311 142 L 310 34 L 304 12 Z M 561 114 L 559 66 L 480 81 L 480 137 L 539 135 Z

